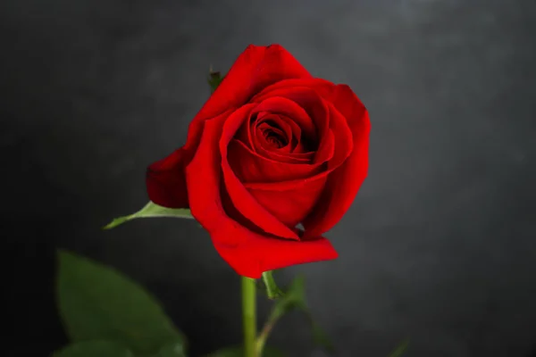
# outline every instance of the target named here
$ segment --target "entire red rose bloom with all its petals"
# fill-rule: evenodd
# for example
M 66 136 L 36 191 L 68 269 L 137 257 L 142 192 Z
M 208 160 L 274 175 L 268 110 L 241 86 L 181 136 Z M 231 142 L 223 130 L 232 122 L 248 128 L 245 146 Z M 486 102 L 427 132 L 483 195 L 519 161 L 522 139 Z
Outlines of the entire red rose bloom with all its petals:
M 156 204 L 189 208 L 242 276 L 334 259 L 322 234 L 366 177 L 369 132 L 348 86 L 313 78 L 279 45 L 248 46 L 186 144 L 149 166 L 147 192 Z

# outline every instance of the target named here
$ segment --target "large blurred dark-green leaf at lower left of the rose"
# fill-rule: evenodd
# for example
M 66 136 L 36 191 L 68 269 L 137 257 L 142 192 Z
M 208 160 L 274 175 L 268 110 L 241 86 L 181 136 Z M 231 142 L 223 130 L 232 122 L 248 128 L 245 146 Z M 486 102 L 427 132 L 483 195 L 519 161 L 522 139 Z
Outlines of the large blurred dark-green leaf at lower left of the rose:
M 58 308 L 72 342 L 117 341 L 141 355 L 185 345 L 156 299 L 130 278 L 74 253 L 59 251 L 58 260 Z

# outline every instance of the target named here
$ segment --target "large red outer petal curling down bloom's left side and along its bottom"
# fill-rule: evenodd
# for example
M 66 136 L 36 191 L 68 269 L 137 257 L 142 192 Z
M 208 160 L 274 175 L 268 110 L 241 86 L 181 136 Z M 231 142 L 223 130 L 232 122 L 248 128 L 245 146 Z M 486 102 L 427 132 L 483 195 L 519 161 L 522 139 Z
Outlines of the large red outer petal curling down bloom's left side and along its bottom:
M 330 242 L 318 238 L 307 242 L 264 237 L 223 210 L 218 142 L 224 120 L 209 120 L 194 159 L 186 169 L 190 209 L 210 234 L 222 258 L 240 275 L 260 278 L 267 270 L 337 258 Z

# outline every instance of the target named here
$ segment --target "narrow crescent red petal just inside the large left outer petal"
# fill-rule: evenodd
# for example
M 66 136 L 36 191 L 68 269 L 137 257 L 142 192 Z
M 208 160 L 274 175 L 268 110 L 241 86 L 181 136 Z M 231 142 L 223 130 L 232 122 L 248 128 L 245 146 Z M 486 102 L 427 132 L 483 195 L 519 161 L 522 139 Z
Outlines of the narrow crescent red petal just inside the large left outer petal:
M 266 233 L 272 234 L 281 238 L 299 239 L 294 231 L 277 220 L 270 212 L 266 211 L 262 205 L 255 201 L 255 198 L 247 192 L 246 187 L 239 181 L 228 162 L 227 146 L 230 140 L 239 129 L 239 126 L 248 118 L 249 112 L 256 104 L 247 104 L 241 107 L 236 112 L 230 114 L 225 120 L 222 127 L 221 137 L 214 137 L 214 140 L 219 139 L 219 148 L 216 146 L 214 150 L 222 155 L 221 168 L 225 187 L 230 195 L 230 199 L 234 207 L 253 222 L 257 227 L 262 228 Z M 199 149 L 198 149 L 199 150 Z

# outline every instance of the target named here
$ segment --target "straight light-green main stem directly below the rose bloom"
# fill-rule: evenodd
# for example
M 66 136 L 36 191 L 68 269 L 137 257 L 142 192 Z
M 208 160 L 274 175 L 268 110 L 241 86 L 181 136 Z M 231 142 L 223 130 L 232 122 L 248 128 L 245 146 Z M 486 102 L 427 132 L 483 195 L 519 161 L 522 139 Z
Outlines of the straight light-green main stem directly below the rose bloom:
M 255 349 L 256 306 L 255 279 L 242 277 L 242 319 L 244 323 L 244 357 L 258 357 Z

